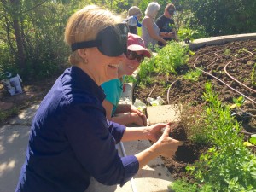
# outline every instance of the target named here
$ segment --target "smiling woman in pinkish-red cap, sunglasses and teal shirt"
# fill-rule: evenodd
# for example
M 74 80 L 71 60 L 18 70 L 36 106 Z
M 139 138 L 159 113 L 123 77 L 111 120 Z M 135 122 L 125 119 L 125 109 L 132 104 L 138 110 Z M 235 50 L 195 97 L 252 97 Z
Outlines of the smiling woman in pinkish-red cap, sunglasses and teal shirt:
M 137 70 L 144 57 L 150 57 L 148 49 L 145 49 L 143 39 L 135 34 L 128 34 L 127 54 L 125 62 L 119 64 L 118 78 L 102 84 L 106 99 L 102 103 L 106 109 L 107 119 L 121 125 L 147 125 L 147 118 L 143 112 L 129 104 L 119 104 L 122 96 L 124 75 L 132 75 Z

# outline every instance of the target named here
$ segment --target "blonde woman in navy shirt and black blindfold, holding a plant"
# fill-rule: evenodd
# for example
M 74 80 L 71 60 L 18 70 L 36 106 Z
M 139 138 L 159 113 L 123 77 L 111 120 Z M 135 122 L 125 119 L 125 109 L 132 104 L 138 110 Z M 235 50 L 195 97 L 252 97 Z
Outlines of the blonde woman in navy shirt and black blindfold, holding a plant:
M 117 78 L 124 60 L 128 26 L 121 20 L 93 5 L 69 18 L 65 40 L 73 50 L 72 67 L 56 79 L 35 114 L 16 191 L 84 192 L 90 177 L 123 185 L 148 160 L 177 150 L 180 142 L 168 137 L 169 125 L 132 129 L 106 119 L 100 85 Z M 156 141 L 151 147 L 119 157 L 115 144 L 121 139 L 150 137 Z

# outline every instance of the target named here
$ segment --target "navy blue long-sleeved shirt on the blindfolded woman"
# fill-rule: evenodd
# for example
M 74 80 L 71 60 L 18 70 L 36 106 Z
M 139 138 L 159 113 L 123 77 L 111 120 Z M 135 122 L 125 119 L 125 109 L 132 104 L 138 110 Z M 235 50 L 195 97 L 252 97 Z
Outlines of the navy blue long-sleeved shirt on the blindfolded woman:
M 16 191 L 84 192 L 90 177 L 123 185 L 137 173 L 137 158 L 120 158 L 115 148 L 125 126 L 107 121 L 104 98 L 84 71 L 67 68 L 32 121 Z

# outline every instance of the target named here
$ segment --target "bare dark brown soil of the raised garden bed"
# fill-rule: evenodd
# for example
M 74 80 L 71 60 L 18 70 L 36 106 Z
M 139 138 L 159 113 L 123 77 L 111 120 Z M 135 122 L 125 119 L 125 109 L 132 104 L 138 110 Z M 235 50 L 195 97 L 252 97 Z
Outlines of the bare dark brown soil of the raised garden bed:
M 251 51 L 253 55 L 241 49 Z M 238 98 L 241 94 L 247 96 L 245 98 L 246 102 L 241 105 L 241 108 L 236 108 L 233 113 L 238 113 L 234 116 L 241 122 L 242 131 L 246 133 L 247 137 L 250 136 L 250 133 L 256 133 L 256 79 L 251 79 L 253 67 L 256 63 L 256 41 L 248 40 L 213 45 L 194 51 L 195 55 L 189 58 L 188 66 L 177 70 L 178 75 L 169 74 L 166 77 L 164 74 L 155 74 L 152 77 L 154 84 L 147 84 L 146 89 L 137 86 L 134 90 L 134 97 L 147 103 L 147 97 L 152 92 L 150 97 L 156 98 L 157 96 L 161 96 L 165 100 L 164 104 L 182 103 L 183 105 L 199 106 L 205 103 L 202 99 L 202 95 L 205 92 L 205 84 L 206 82 L 211 82 L 214 92 L 218 93 L 218 100 L 226 105 L 234 104 L 233 98 Z M 226 67 L 226 70 L 230 73 L 230 76 L 242 84 L 246 84 L 251 90 L 238 84 L 234 79 L 231 79 L 224 73 L 224 67 L 229 62 L 230 64 Z M 189 70 L 195 70 L 194 65 L 195 67 L 204 67 L 204 71 L 216 76 L 222 82 L 206 73 L 202 73 L 200 79 L 195 82 L 179 79 L 181 75 Z M 154 86 L 155 84 L 156 86 Z M 171 84 L 169 98 L 167 98 L 167 91 Z M 235 90 L 238 90 L 240 93 L 237 93 Z M 176 134 L 181 132 L 184 132 L 183 127 L 178 126 Z M 177 139 L 183 140 L 185 137 L 185 135 L 179 136 Z M 172 158 L 163 158 L 174 178 L 189 178 L 188 173 L 185 172 L 185 167 L 188 164 L 194 163 L 195 160 L 199 160 L 200 155 L 209 148 L 209 146 L 198 146 L 189 140 L 183 141 L 185 141 L 183 146 L 177 149 L 176 154 Z M 255 147 L 251 149 L 255 152 Z

